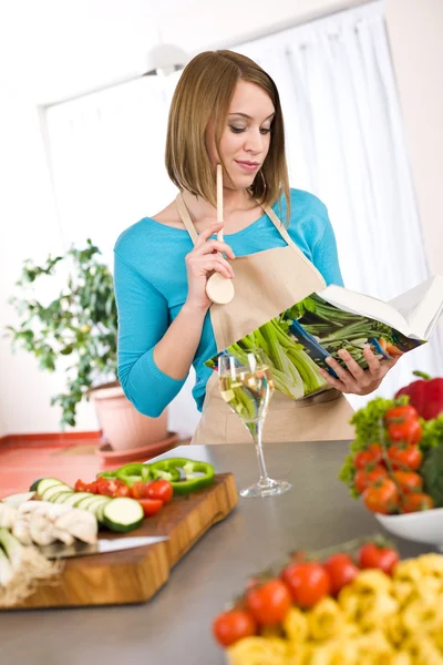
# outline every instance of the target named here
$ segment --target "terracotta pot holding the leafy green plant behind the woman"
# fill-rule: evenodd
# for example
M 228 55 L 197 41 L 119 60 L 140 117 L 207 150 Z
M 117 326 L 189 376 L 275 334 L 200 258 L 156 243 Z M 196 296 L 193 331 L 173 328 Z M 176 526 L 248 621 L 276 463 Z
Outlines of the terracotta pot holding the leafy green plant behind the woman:
M 100 427 L 114 450 L 131 450 L 163 441 L 167 437 L 167 409 L 158 418 L 140 413 L 119 383 L 91 390 Z

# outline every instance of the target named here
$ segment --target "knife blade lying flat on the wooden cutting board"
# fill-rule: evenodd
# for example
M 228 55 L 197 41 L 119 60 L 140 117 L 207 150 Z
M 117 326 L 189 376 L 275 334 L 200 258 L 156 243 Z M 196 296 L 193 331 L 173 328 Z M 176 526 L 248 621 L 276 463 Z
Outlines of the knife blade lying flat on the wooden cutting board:
M 72 545 L 51 543 L 39 548 L 39 550 L 47 559 L 70 559 L 72 556 L 89 556 L 90 554 L 105 554 L 107 552 L 119 552 L 120 550 L 144 548 L 165 540 L 169 540 L 167 535 L 138 535 L 115 540 L 101 539 L 92 545 L 81 541 L 75 541 Z

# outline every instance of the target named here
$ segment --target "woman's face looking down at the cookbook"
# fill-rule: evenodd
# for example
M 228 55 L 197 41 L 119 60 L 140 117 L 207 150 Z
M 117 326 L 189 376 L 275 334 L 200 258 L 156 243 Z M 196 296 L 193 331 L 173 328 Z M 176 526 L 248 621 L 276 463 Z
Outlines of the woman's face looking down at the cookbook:
M 261 88 L 238 81 L 220 141 L 222 158 L 236 190 L 250 187 L 261 168 L 269 151 L 274 114 L 274 104 Z M 206 142 L 215 167 L 219 157 L 214 121 L 209 122 Z

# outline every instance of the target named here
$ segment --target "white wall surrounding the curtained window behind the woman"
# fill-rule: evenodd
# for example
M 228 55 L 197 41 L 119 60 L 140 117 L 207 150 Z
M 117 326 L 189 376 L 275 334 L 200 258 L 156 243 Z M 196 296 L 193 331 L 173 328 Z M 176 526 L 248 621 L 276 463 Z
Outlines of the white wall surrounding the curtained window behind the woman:
M 174 41 L 195 52 L 240 43 L 358 2 L 299 0 L 295 4 L 275 0 L 270 11 L 266 0 L 256 0 L 253 10 L 249 2 L 226 0 L 224 11 L 217 13 L 215 4 L 207 0 L 186 0 L 185 6 L 182 0 L 181 3 L 165 0 L 161 4 L 163 9 L 156 9 L 155 21 L 152 8 L 147 11 L 143 0 L 131 0 L 124 6 L 116 0 L 94 3 L 82 0 L 71 7 L 45 0 L 47 14 L 42 14 L 41 2 L 31 3 L 34 13 L 27 23 L 29 33 L 18 12 L 9 25 L 0 20 L 0 63 L 6 60 L 9 63 L 8 72 L 0 69 L 0 328 L 13 318 L 6 300 L 21 262 L 28 256 L 41 260 L 49 250 L 62 248 L 35 102 L 55 101 L 143 72 L 144 53 L 158 39 L 155 22 L 163 41 Z M 178 11 L 181 6 L 184 9 Z M 169 10 L 174 11 L 168 17 Z M 424 241 L 431 268 L 440 273 L 443 273 L 443 238 L 436 196 L 441 173 L 437 160 L 443 154 L 440 120 L 443 45 L 437 35 L 443 29 L 442 12 L 441 0 L 387 0 Z M 54 27 L 55 20 L 60 30 Z M 17 34 L 23 39 L 18 40 Z M 29 44 L 28 52 L 24 43 Z M 12 58 L 4 58 L 11 53 Z M 11 71 L 16 72 L 12 80 L 8 75 Z M 1 83 L 2 78 L 8 80 L 8 86 Z M 63 375 L 40 372 L 24 351 L 12 356 L 1 335 L 0 367 L 0 415 L 4 431 L 56 431 L 59 411 L 49 403 L 51 395 L 63 387 Z M 92 406 L 83 405 L 78 429 L 96 427 Z

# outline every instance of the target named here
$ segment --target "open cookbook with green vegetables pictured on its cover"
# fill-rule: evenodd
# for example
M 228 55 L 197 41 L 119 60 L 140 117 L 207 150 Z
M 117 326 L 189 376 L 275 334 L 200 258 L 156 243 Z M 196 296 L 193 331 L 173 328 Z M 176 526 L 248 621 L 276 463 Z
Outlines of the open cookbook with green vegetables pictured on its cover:
M 272 370 L 275 387 L 292 399 L 329 389 L 319 367 L 332 356 L 341 366 L 340 349 L 367 369 L 363 348 L 380 359 L 411 351 L 429 340 L 443 309 L 443 277 L 435 275 L 389 303 L 331 285 L 296 303 L 205 365 L 217 369 L 218 357 L 233 354 L 241 362 L 260 349 Z

